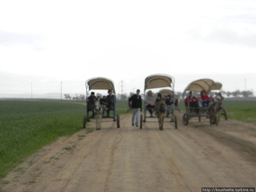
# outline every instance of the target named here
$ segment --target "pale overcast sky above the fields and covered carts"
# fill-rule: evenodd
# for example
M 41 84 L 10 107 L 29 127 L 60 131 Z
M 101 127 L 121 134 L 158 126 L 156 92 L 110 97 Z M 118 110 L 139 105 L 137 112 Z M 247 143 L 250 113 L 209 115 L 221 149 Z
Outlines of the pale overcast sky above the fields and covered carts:
M 256 1 L 0 0 L 1 94 L 31 82 L 58 92 L 60 81 L 83 93 L 92 77 L 129 93 L 154 73 L 172 75 L 175 91 L 201 78 L 255 91 L 255 53 Z

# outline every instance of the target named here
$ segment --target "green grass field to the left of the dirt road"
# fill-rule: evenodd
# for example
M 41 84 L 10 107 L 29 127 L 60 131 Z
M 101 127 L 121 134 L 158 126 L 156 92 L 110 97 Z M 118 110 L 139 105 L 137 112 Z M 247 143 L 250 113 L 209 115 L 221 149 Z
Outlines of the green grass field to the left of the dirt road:
M 0 101 L 0 178 L 44 145 L 81 130 L 84 113 L 75 103 Z

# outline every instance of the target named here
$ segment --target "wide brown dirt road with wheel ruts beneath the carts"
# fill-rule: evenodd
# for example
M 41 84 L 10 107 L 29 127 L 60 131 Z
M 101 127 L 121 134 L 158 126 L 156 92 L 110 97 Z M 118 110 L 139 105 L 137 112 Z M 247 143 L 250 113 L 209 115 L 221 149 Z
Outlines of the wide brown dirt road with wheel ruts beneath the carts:
M 201 191 L 255 187 L 256 127 L 223 119 L 131 126 L 131 115 L 61 137 L 2 180 L 2 191 Z M 82 118 L 81 118 L 82 121 Z M 84 137 L 86 136 L 86 137 Z M 65 149 L 66 148 L 66 149 Z M 19 168 L 19 169 L 18 169 Z M 1 191 L 0 190 L 0 191 Z

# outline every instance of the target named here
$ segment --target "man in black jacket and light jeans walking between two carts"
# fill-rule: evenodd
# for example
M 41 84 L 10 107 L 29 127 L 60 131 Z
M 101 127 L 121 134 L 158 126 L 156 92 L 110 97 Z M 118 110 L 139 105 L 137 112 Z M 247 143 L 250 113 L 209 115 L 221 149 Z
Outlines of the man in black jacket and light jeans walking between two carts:
M 139 95 L 140 90 L 137 89 L 136 92 L 137 92 L 136 94 L 134 94 L 133 96 L 131 96 L 129 98 L 129 104 L 131 105 L 132 110 L 133 110 L 132 126 L 134 126 L 134 118 L 135 118 L 135 115 L 137 115 L 135 125 L 138 127 L 139 126 L 139 118 L 140 118 L 140 114 L 141 114 L 141 111 L 142 111 L 142 108 L 141 108 L 142 101 L 141 101 L 141 96 Z

